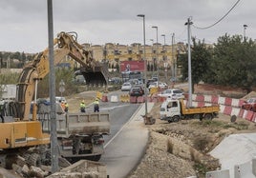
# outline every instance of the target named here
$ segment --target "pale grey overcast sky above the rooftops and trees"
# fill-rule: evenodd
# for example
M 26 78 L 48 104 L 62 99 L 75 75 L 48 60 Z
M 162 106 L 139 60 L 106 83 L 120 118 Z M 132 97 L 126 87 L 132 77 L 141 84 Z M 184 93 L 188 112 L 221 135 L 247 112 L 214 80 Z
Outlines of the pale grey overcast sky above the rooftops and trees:
M 193 25 L 205 28 L 220 20 L 238 0 L 53 0 L 53 35 L 75 31 L 79 43 L 104 45 L 143 44 L 142 18 L 145 14 L 146 44 L 187 43 L 189 17 Z M 39 52 L 48 47 L 47 0 L 0 1 L 0 51 Z M 191 27 L 191 35 L 214 43 L 218 37 L 245 35 L 256 38 L 256 1 L 241 0 L 220 23 L 206 30 Z

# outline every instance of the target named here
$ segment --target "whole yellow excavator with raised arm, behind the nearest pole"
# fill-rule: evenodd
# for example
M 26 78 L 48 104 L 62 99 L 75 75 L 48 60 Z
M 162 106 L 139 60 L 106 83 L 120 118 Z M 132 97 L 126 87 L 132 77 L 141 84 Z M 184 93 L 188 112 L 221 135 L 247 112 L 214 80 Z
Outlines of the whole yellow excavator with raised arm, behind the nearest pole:
M 60 32 L 53 40 L 54 65 L 66 56 L 71 56 L 81 66 L 80 72 L 87 85 L 107 85 L 107 66 L 96 61 L 89 50 L 76 41 L 75 32 Z M 16 98 L 2 105 L 0 116 L 0 166 L 7 167 L 11 153 L 22 152 L 32 147 L 50 144 L 50 135 L 44 133 L 42 123 L 37 120 L 32 98 L 36 97 L 37 83 L 50 71 L 49 49 L 38 53 L 34 60 L 22 70 L 17 83 Z

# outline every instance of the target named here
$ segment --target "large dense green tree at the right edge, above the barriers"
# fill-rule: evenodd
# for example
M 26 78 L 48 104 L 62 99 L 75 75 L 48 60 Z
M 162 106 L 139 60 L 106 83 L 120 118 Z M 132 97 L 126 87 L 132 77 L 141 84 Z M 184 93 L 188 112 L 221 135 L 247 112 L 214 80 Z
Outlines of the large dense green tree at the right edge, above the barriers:
M 238 87 L 249 92 L 256 86 L 256 45 L 252 40 L 244 41 L 243 36 L 225 34 L 218 38 L 211 61 L 214 84 Z

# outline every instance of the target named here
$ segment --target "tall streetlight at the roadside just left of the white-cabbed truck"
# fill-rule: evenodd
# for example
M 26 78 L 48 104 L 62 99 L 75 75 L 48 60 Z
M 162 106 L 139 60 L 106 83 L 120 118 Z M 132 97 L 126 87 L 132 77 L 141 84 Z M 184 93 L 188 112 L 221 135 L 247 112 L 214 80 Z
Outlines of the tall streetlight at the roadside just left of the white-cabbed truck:
M 139 14 L 137 15 L 139 17 L 143 18 L 143 58 L 144 58 L 144 92 L 145 92 L 145 117 L 147 117 L 147 61 L 146 61 L 146 32 L 145 32 L 145 15 Z

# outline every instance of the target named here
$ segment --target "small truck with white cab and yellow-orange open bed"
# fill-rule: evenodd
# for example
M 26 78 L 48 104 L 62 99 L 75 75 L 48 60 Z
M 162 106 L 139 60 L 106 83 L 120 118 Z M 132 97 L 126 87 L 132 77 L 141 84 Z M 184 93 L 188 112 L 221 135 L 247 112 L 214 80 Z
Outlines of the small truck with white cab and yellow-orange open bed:
M 167 99 L 160 106 L 160 120 L 169 123 L 191 118 L 211 120 L 218 116 L 219 111 L 219 105 L 187 108 L 183 99 Z

